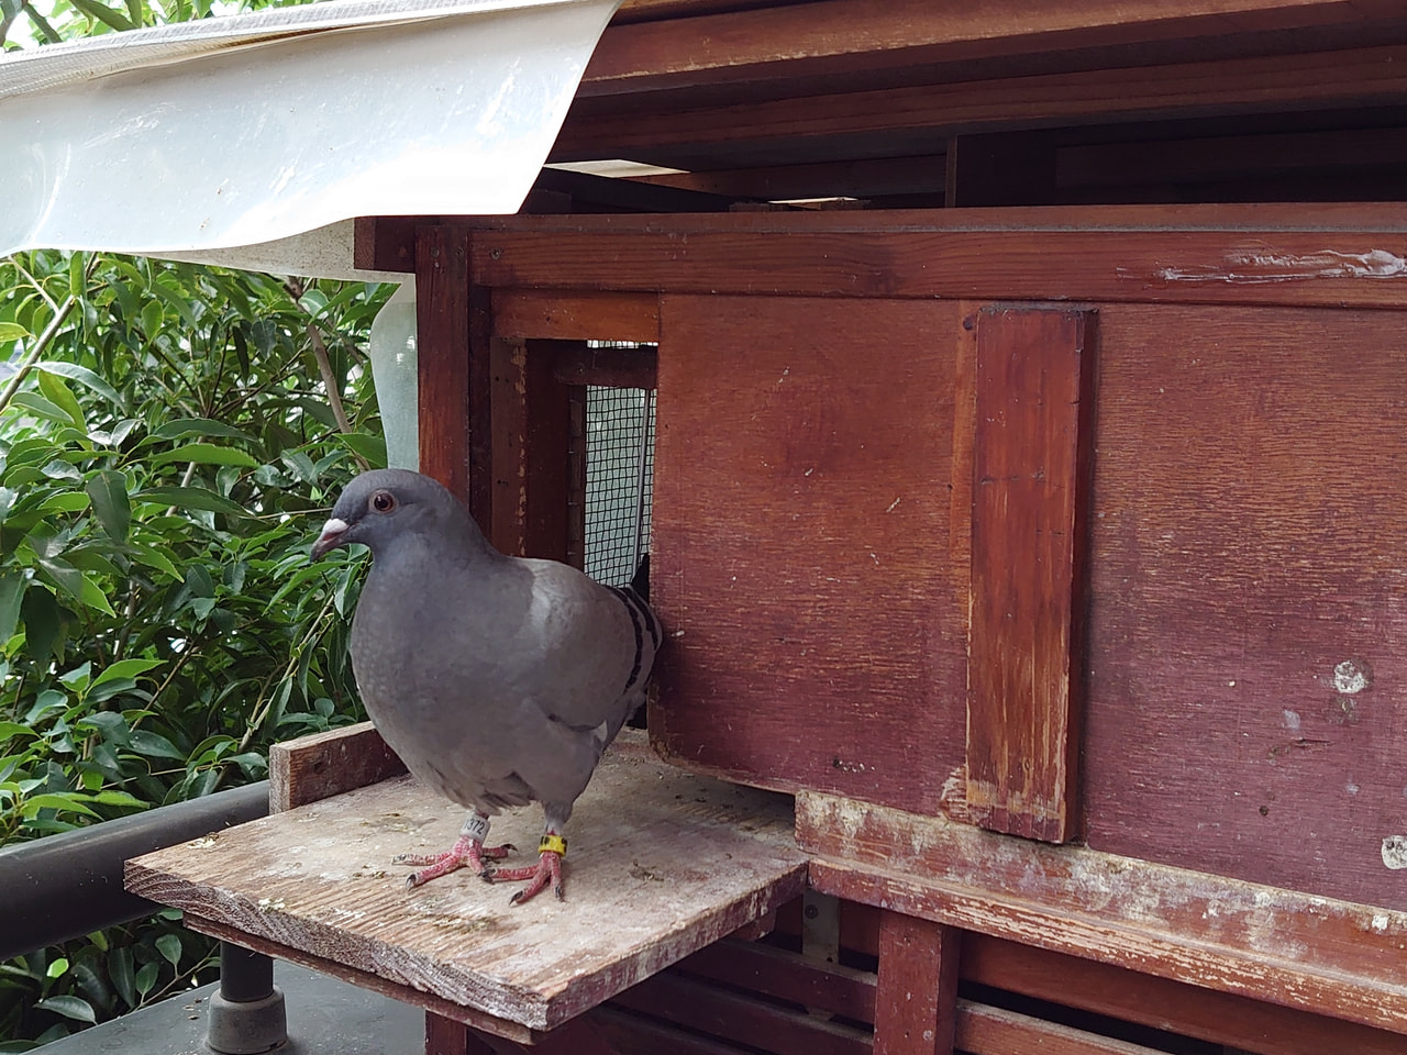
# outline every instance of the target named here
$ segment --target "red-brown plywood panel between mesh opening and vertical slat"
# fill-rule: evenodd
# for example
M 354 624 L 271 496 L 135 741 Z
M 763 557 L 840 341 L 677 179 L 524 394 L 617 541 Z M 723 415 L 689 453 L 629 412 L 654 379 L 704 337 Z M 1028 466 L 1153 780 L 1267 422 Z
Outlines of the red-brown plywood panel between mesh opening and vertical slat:
M 673 639 L 650 730 L 668 757 L 941 807 L 967 667 L 961 309 L 661 301 L 651 592 Z

